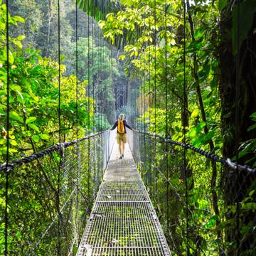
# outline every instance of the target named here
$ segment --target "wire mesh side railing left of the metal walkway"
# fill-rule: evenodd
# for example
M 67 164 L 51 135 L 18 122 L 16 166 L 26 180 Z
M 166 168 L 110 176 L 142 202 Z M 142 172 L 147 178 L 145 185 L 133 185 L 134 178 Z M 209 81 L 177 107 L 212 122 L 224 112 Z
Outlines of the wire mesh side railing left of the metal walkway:
M 5 242 L 9 255 L 74 255 L 111 146 L 110 132 L 100 132 L 9 164 L 7 216 L 0 211 L 1 230 L 7 225 L 8 234 L 0 255 Z M 4 184 L 6 165 L 0 169 Z

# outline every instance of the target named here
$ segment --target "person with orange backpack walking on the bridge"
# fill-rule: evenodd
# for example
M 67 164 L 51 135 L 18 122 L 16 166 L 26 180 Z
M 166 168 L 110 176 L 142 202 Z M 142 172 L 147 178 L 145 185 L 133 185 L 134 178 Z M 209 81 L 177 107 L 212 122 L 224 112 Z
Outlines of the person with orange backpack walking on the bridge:
M 126 128 L 134 131 L 132 127 L 127 124 L 127 120 L 124 119 L 124 114 L 119 114 L 117 121 L 114 123 L 111 131 L 117 127 L 117 144 L 120 153 L 119 159 L 124 158 L 124 145 L 127 143 Z

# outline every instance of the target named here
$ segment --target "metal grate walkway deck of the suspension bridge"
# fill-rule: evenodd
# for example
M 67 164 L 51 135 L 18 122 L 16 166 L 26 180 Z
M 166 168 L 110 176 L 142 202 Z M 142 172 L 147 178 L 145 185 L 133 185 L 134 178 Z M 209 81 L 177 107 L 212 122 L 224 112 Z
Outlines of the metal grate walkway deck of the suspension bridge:
M 171 256 L 129 146 L 124 154 L 115 144 L 77 256 Z

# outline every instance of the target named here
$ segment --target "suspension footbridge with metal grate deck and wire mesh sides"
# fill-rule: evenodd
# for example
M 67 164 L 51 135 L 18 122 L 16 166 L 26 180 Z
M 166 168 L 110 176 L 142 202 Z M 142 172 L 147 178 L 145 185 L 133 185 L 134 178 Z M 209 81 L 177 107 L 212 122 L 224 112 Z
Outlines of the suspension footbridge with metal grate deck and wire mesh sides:
M 18 194 L 9 196 L 11 211 L 7 214 L 12 233 L 6 242 L 10 255 L 179 255 L 181 245 L 194 238 L 198 228 L 188 227 L 197 221 L 193 217 L 197 209 L 187 200 L 191 181 L 183 182 L 183 151 L 193 154 L 198 165 L 194 167 L 198 172 L 195 178 L 203 175 L 200 166 L 205 159 L 215 162 L 218 171 L 223 167 L 238 171 L 243 181 L 255 177 L 255 169 L 249 166 L 147 132 L 130 132 L 124 159 L 119 159 L 114 139 L 115 131 L 100 132 L 8 165 L 9 191 Z M 165 160 L 157 159 L 161 148 L 163 159 L 171 156 L 167 166 Z M 6 164 L 1 165 L 1 171 L 5 169 Z M 53 172 L 58 173 L 58 182 Z M 38 176 L 38 186 L 33 186 L 33 174 Z M 27 182 L 19 185 L 24 178 Z M 220 188 L 221 210 L 225 194 Z M 211 193 L 202 190 L 201 197 L 204 210 L 213 213 Z M 29 218 L 24 219 L 23 214 Z M 241 210 L 240 221 L 246 221 L 247 214 Z M 225 250 L 224 244 L 220 247 L 215 242 L 218 231 L 210 232 L 208 242 L 213 252 Z M 201 242 L 201 238 L 194 239 Z

